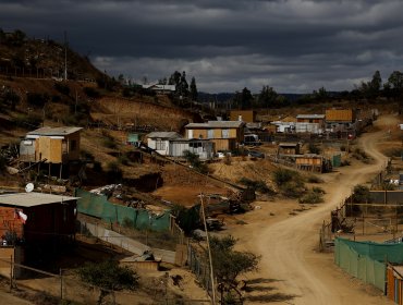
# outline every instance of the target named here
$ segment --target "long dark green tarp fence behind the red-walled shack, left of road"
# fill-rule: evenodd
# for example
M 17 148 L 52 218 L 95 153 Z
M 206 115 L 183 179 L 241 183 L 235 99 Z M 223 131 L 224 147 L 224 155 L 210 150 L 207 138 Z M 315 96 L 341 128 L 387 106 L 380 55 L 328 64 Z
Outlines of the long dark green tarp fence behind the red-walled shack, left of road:
M 78 212 L 100 218 L 107 222 L 130 224 L 138 230 L 151 230 L 157 232 L 170 229 L 170 212 L 167 210 L 158 216 L 145 210 L 114 205 L 108 202 L 107 196 L 96 195 L 87 191 L 76 188 L 75 195 Z

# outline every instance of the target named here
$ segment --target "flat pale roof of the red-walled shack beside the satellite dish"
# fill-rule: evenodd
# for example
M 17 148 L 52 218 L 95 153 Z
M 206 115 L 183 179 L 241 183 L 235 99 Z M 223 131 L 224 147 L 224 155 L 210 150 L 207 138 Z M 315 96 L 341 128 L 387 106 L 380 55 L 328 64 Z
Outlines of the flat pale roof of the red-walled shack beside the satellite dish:
M 15 206 L 15 207 L 36 207 L 41 205 L 50 205 L 62 202 L 70 202 L 78 199 L 78 197 L 62 196 L 45 193 L 14 193 L 0 195 L 0 205 Z

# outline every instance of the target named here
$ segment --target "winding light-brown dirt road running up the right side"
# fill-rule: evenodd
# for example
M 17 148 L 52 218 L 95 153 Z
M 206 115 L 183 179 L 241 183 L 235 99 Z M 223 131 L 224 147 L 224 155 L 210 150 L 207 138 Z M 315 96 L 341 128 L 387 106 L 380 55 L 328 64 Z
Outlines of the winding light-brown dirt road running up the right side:
M 252 231 L 235 234 L 249 251 L 261 255 L 257 278 L 270 279 L 270 290 L 282 294 L 282 298 L 278 298 L 283 300 L 280 304 L 392 304 L 379 291 L 368 289 L 338 269 L 332 254 L 320 254 L 316 248 L 319 227 L 329 220 L 330 210 L 354 185 L 367 182 L 384 167 L 387 158 L 377 150 L 377 142 L 396 123 L 395 117 L 384 115 L 376 121 L 380 131 L 364 134 L 359 139 L 374 162 L 357 163 L 323 175 L 326 183 L 321 187 L 327 192 L 326 204 L 266 228 L 260 223 L 251 225 Z

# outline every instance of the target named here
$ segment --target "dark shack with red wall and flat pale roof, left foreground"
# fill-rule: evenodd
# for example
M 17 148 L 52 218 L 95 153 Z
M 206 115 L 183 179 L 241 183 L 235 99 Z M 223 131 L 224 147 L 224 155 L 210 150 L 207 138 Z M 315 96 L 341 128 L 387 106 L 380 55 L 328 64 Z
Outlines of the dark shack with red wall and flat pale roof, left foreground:
M 73 241 L 77 197 L 44 193 L 0 195 L 2 245 L 20 245 L 20 261 L 35 263 Z

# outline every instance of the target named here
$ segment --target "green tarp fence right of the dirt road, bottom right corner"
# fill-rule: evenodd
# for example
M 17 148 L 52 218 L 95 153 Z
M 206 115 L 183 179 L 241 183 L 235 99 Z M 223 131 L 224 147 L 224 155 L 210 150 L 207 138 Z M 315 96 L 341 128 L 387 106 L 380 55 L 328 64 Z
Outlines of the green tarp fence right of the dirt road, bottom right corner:
M 351 276 L 386 291 L 386 263 L 403 261 L 403 244 L 334 241 L 334 261 Z

